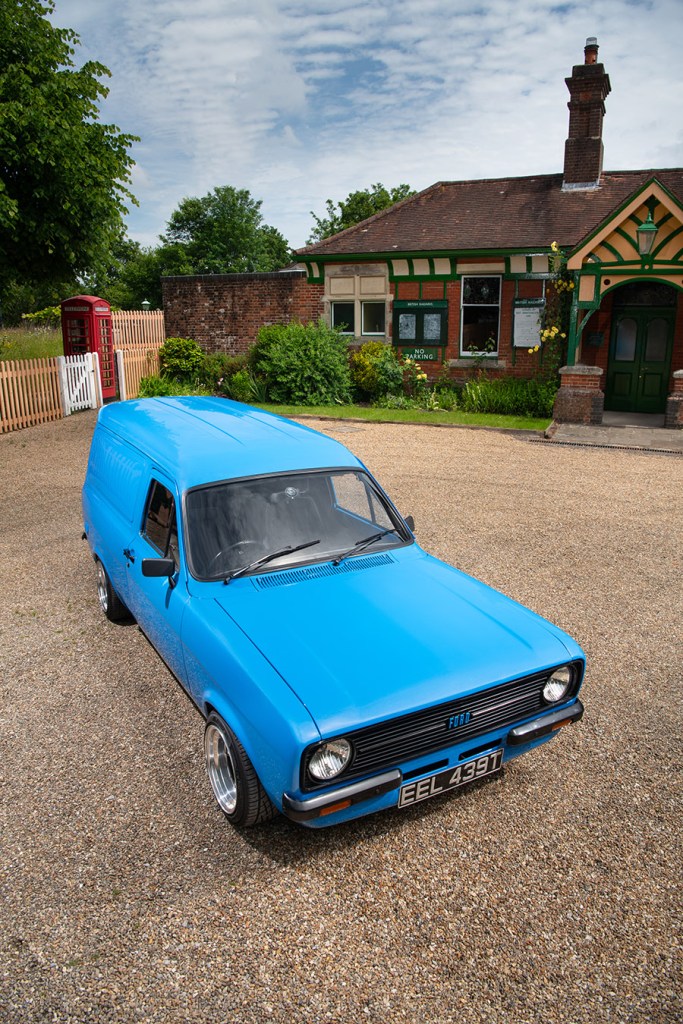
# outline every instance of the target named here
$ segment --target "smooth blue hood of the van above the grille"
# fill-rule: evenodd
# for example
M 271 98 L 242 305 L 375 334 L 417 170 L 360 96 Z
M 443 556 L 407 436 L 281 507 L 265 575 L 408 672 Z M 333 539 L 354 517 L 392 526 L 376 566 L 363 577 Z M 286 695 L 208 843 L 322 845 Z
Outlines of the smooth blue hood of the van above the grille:
M 561 630 L 417 545 L 234 581 L 217 601 L 323 735 L 581 656 Z

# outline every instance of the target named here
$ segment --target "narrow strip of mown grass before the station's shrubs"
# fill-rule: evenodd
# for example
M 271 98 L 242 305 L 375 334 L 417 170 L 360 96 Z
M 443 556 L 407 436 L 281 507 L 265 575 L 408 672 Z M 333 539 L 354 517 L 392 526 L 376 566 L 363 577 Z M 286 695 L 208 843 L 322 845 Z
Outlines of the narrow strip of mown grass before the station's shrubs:
M 367 420 L 370 423 L 445 423 L 465 427 L 497 427 L 507 430 L 545 430 L 550 419 L 527 416 L 502 416 L 488 413 L 428 413 L 422 409 L 377 409 L 368 406 L 272 406 L 259 402 L 259 409 L 279 416 L 319 416 L 338 420 Z

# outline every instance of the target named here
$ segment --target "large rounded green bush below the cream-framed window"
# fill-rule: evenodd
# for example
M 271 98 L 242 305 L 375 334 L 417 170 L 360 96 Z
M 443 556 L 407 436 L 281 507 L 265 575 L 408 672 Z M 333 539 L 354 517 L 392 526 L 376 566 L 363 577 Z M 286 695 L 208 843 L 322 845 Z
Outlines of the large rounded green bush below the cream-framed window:
M 323 319 L 262 327 L 250 362 L 271 401 L 316 406 L 350 400 L 346 341 Z

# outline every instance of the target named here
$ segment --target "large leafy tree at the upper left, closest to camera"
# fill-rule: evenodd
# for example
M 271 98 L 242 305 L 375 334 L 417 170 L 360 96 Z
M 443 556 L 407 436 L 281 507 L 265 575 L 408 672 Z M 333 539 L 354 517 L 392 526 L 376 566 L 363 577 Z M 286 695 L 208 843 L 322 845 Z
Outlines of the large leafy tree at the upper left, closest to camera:
M 110 75 L 72 59 L 52 0 L 0 4 L 0 292 L 97 268 L 123 226 L 136 136 L 100 124 Z

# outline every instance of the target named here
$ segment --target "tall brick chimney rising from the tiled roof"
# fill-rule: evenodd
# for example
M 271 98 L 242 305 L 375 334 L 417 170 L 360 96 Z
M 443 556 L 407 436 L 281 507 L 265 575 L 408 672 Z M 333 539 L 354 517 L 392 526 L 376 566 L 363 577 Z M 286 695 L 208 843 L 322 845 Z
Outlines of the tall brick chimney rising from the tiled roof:
M 585 62 L 574 65 L 565 78 L 570 99 L 569 137 L 564 143 L 562 188 L 597 188 L 602 172 L 602 119 L 611 90 L 604 66 L 598 63 L 598 41 L 586 40 Z

